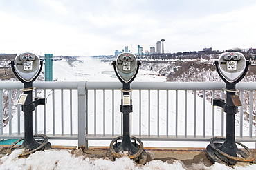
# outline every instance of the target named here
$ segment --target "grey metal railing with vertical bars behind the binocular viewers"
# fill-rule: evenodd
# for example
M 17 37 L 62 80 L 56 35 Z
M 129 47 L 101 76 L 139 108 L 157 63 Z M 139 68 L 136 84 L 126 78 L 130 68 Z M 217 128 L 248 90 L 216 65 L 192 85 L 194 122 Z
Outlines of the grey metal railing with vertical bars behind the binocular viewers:
M 35 82 L 33 86 L 35 97 L 48 100 L 33 112 L 35 134 L 77 140 L 78 146 L 122 135 L 120 82 Z M 20 82 L 0 83 L 0 138 L 24 135 L 23 112 L 16 105 L 22 87 Z M 210 104 L 210 98 L 225 98 L 224 87 L 217 82 L 131 83 L 131 134 L 152 141 L 209 141 L 212 136 L 225 136 L 226 114 Z M 255 142 L 256 83 L 238 83 L 237 89 L 244 105 L 236 114 L 236 139 Z

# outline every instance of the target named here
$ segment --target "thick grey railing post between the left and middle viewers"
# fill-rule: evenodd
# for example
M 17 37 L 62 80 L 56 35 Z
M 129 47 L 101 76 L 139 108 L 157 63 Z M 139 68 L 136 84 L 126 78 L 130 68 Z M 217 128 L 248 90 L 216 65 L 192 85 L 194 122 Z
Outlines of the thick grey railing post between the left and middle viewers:
M 78 83 L 78 147 L 88 147 L 85 142 L 86 134 L 86 82 Z

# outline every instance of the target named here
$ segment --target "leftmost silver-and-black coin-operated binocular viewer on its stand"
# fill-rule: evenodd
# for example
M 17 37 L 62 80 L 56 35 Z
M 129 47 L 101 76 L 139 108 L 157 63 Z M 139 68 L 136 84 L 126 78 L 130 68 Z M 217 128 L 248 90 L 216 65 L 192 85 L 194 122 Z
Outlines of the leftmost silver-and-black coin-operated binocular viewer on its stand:
M 33 153 L 37 150 L 42 150 L 46 147 L 51 147 L 51 144 L 48 142 L 48 137 L 45 135 L 35 135 L 33 136 L 33 117 L 32 113 L 35 110 L 35 107 L 37 105 L 45 105 L 46 104 L 46 98 L 35 98 L 33 101 L 33 82 L 37 79 L 39 76 L 41 70 L 42 70 L 43 61 L 40 61 L 39 57 L 36 54 L 33 53 L 22 53 L 18 54 L 15 57 L 15 61 L 11 62 L 12 71 L 14 72 L 15 76 L 21 81 L 21 83 L 24 83 L 24 88 L 21 89 L 21 94 L 19 96 L 18 105 L 21 105 L 22 111 L 24 111 L 24 138 L 21 138 L 20 140 L 17 140 L 17 142 L 14 142 L 9 150 L 11 151 L 12 147 L 16 145 L 18 142 L 24 140 L 21 147 L 19 148 L 25 148 L 28 149 L 28 153 L 25 153 L 25 156 L 30 153 Z M 37 142 L 34 137 L 42 137 L 44 138 L 44 141 L 38 140 Z M 46 146 L 47 145 L 47 146 Z

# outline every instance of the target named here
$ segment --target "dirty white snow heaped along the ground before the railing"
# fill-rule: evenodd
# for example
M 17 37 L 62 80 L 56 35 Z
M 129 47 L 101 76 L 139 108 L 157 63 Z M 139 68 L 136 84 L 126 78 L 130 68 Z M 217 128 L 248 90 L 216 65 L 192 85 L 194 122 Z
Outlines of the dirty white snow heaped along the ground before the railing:
M 162 162 L 161 160 L 152 160 L 145 165 L 136 164 L 129 157 L 117 158 L 115 161 L 107 160 L 106 158 L 89 158 L 82 150 L 78 149 L 75 153 L 68 150 L 46 150 L 36 151 L 28 156 L 28 158 L 18 158 L 24 151 L 23 149 L 12 151 L 9 156 L 3 156 L 0 159 L 1 170 L 28 170 L 28 169 L 43 169 L 43 170 L 58 170 L 58 169 L 90 169 L 90 170 L 116 170 L 116 169 L 232 169 L 223 164 L 213 164 L 211 167 L 205 167 L 203 163 L 192 164 L 191 167 L 184 167 L 180 161 Z M 234 167 L 235 170 L 256 169 L 256 164 L 246 167 Z

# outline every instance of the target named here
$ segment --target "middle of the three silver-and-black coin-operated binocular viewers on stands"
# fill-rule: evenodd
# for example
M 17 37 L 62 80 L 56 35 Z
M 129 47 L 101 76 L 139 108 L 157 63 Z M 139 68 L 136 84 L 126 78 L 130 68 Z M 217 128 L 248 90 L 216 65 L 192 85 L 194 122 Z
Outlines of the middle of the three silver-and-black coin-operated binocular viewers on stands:
M 116 76 L 122 83 L 122 89 L 120 89 L 122 91 L 120 111 L 123 114 L 123 136 L 118 136 L 111 141 L 107 155 L 111 160 L 114 160 L 122 157 L 120 153 L 127 151 L 129 158 L 140 164 L 145 164 L 147 153 L 144 150 L 143 142 L 135 136 L 130 136 L 129 127 L 129 114 L 133 111 L 130 83 L 134 81 L 141 63 L 136 60 L 134 54 L 126 52 L 119 54 L 116 61 L 112 62 L 112 65 Z M 122 140 L 122 142 L 118 142 L 118 140 Z M 134 142 L 131 142 L 131 140 L 134 140 Z

